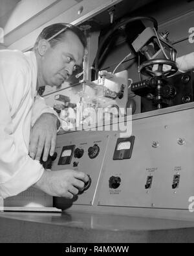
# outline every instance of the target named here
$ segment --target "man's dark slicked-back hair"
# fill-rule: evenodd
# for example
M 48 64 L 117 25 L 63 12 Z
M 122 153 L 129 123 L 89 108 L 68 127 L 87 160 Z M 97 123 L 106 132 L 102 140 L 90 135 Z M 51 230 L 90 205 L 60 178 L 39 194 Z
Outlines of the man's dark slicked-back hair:
M 36 49 L 36 47 L 39 44 L 39 41 L 42 39 L 48 40 L 50 42 L 50 46 L 54 47 L 56 44 L 64 40 L 65 32 L 67 31 L 74 32 L 74 34 L 76 34 L 80 39 L 81 44 L 83 44 L 83 47 L 87 47 L 87 38 L 83 31 L 81 31 L 81 29 L 69 23 L 55 23 L 43 29 L 43 31 L 39 34 L 38 38 L 36 39 L 34 49 Z

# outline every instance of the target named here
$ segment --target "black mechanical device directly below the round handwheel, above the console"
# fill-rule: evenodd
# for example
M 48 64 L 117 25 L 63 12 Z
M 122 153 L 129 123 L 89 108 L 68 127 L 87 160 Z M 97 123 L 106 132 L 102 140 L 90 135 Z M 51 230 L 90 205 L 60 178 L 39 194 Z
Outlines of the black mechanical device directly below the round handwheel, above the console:
M 151 77 L 131 84 L 131 91 L 141 96 L 141 112 L 173 107 L 194 101 L 193 71 L 173 77 Z

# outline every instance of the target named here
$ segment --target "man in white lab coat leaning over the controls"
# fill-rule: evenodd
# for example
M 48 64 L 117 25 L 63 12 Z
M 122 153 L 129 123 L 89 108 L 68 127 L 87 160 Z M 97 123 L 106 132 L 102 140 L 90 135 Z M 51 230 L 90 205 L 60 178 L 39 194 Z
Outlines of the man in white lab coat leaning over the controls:
M 80 66 L 84 34 L 65 23 L 43 29 L 34 51 L 0 51 L 0 196 L 35 186 L 51 196 L 72 198 L 88 181 L 74 170 L 48 172 L 39 163 L 53 155 L 57 121 L 37 95 L 41 86 L 60 86 Z M 30 133 L 31 131 L 31 133 Z

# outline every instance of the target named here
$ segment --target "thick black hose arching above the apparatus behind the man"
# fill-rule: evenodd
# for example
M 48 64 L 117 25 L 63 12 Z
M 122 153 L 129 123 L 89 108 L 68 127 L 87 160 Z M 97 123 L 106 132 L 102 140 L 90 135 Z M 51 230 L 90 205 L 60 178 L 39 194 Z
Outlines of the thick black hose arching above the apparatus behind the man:
M 111 34 L 113 34 L 114 31 L 116 31 L 116 29 L 119 29 L 120 27 L 124 26 L 125 24 L 127 24 L 129 22 L 134 22 L 134 21 L 138 21 L 138 20 L 142 20 L 142 19 L 152 21 L 153 24 L 154 24 L 155 29 L 156 30 L 158 29 L 158 23 L 157 23 L 155 18 L 146 17 L 146 16 L 137 16 L 137 17 L 127 17 L 127 18 L 119 21 L 118 23 L 116 23 L 116 25 L 113 26 L 113 28 L 109 32 L 107 32 L 107 34 L 103 38 L 101 44 L 99 45 L 98 51 L 96 53 L 96 58 L 95 58 L 96 77 L 98 77 L 98 61 L 99 61 L 99 58 L 100 58 L 100 53 L 101 53 L 103 45 L 105 44 L 107 39 L 111 36 Z

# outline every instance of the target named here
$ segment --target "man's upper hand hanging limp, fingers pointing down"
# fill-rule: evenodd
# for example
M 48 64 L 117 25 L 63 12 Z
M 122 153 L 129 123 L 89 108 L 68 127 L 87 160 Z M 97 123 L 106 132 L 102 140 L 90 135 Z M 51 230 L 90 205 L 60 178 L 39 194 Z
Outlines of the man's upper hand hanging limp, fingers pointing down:
M 29 153 L 32 159 L 39 160 L 43 149 L 43 161 L 47 160 L 49 151 L 51 156 L 54 154 L 57 122 L 58 118 L 54 114 L 45 113 L 41 114 L 36 123 L 34 123 L 29 145 Z

